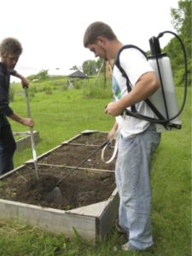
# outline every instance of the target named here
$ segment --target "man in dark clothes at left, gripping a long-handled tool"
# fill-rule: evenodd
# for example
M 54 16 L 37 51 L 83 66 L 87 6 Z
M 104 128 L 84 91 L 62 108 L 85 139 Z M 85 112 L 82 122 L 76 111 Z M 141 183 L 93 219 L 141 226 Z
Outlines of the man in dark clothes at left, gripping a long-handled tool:
M 0 44 L 0 175 L 14 168 L 16 144 L 7 117 L 22 125 L 34 125 L 32 119 L 20 117 L 9 107 L 10 75 L 19 78 L 23 87 L 29 84 L 26 78 L 15 71 L 21 53 L 22 46 L 15 38 L 5 38 Z

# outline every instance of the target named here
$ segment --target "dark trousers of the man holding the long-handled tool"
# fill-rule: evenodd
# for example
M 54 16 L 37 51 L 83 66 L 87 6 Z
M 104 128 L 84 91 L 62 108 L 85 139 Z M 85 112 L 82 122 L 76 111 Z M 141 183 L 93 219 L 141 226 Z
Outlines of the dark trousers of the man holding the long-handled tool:
M 0 114 L 0 175 L 14 169 L 15 138 L 6 116 Z

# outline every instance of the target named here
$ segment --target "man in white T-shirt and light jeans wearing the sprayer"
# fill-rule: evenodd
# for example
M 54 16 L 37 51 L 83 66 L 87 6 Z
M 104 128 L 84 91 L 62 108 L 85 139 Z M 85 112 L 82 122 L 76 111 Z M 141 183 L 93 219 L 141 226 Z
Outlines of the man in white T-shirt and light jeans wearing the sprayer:
M 84 47 L 105 61 L 114 60 L 123 44 L 110 26 L 94 22 L 84 33 Z M 160 86 L 154 70 L 143 54 L 137 49 L 124 49 L 119 55 L 121 67 L 131 82 L 128 93 L 126 80 L 119 68 L 113 66 L 113 102 L 109 102 L 104 112 L 115 117 L 116 122 L 108 133 L 112 140 L 120 130 L 118 159 L 115 178 L 119 190 L 119 226 L 126 232 L 128 241 L 122 250 L 143 251 L 153 246 L 150 223 L 151 189 L 150 163 L 154 149 L 160 143 L 160 134 L 148 121 L 126 115 L 125 108 L 131 106 L 143 115 L 154 117 L 154 113 L 143 102 Z

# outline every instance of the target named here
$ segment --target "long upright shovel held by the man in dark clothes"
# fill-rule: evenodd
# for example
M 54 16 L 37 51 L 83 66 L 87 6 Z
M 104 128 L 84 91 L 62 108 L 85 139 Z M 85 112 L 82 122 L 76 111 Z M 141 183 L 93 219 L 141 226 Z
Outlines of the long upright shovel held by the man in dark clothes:
M 30 111 L 30 107 L 29 107 L 29 97 L 28 97 L 28 91 L 27 91 L 26 87 L 25 87 L 25 96 L 26 96 L 27 117 L 31 119 L 31 111 Z M 36 149 L 35 149 L 32 127 L 29 127 L 29 131 L 30 131 L 30 137 L 31 137 L 31 142 L 32 142 L 32 157 L 33 157 L 34 166 L 35 166 L 35 173 L 36 173 L 37 179 L 39 180 L 38 160 L 37 160 L 37 154 L 36 154 Z

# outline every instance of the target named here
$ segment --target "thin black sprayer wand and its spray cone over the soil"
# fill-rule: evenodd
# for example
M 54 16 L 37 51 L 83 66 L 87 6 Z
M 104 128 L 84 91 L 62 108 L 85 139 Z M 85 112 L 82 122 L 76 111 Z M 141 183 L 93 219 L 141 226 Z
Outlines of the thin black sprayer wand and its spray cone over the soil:
M 97 151 L 99 151 L 100 149 L 104 148 L 106 145 L 110 144 L 109 141 L 106 141 L 104 143 L 102 143 L 102 146 L 100 146 L 99 148 L 96 148 L 96 150 L 94 152 L 92 152 L 91 154 L 89 154 L 89 156 L 87 158 L 85 158 L 82 162 L 79 163 L 78 166 L 76 166 L 72 172 L 69 172 L 65 177 L 62 177 L 55 185 L 55 188 L 52 189 L 49 192 L 48 198 L 49 201 L 55 202 L 55 203 L 61 203 L 62 201 L 62 195 L 61 195 L 61 190 L 59 188 L 59 185 L 64 181 L 64 179 L 66 179 L 67 177 L 69 177 L 70 175 L 72 175 L 73 172 L 75 172 L 80 166 L 82 166 L 84 164 L 84 162 L 86 162 L 87 160 L 90 159 L 90 157 L 94 154 L 96 154 Z

